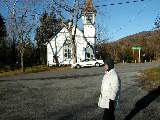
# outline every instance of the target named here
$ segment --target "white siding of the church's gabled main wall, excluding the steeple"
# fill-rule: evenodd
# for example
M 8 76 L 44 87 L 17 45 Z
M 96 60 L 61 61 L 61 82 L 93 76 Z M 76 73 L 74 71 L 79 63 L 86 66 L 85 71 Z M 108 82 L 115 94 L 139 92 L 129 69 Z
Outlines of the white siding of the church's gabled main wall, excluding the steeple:
M 74 28 L 72 34 L 74 33 Z M 51 41 L 47 44 L 47 61 L 49 65 L 54 65 L 53 55 L 57 52 L 58 60 L 60 64 L 72 64 L 72 59 L 64 58 L 64 48 L 63 44 L 66 39 L 69 38 L 69 33 L 66 28 L 63 28 Z M 76 29 L 76 47 L 77 47 L 77 62 L 85 59 L 85 48 L 87 47 L 87 42 L 83 37 L 83 33 Z M 51 45 L 50 45 L 51 44 Z M 52 46 L 52 47 L 51 47 Z M 53 50 L 51 49 L 53 48 Z M 72 50 L 72 49 L 71 49 Z

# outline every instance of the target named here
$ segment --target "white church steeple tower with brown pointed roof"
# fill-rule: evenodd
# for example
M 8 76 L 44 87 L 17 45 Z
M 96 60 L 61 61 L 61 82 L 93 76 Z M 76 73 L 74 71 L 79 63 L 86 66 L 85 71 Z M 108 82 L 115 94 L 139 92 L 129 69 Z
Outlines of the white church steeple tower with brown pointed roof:
M 89 46 L 87 45 L 86 49 L 87 56 L 90 56 L 88 57 L 88 59 L 95 58 L 96 13 L 97 11 L 93 5 L 93 1 L 86 0 L 84 8 L 82 10 L 82 21 L 84 37 L 90 43 Z

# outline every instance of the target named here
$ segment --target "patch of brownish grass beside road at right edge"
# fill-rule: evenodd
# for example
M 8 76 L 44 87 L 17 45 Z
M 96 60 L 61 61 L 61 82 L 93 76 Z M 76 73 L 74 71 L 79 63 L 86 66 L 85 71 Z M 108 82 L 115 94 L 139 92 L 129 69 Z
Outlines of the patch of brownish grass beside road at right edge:
M 160 66 L 143 71 L 142 84 L 144 88 L 153 89 L 160 86 Z

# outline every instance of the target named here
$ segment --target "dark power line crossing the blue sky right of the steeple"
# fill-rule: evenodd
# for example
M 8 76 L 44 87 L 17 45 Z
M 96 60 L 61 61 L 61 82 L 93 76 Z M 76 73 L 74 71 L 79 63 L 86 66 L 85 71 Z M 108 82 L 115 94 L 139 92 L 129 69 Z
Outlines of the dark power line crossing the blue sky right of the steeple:
M 138 3 L 143 2 L 145 0 L 133 0 L 133 1 L 126 1 L 126 2 L 118 2 L 118 3 L 110 3 L 110 4 L 103 4 L 103 5 L 96 5 L 95 7 L 106 7 L 106 6 L 114 6 L 114 5 L 123 5 L 123 4 L 132 4 L 132 3 Z

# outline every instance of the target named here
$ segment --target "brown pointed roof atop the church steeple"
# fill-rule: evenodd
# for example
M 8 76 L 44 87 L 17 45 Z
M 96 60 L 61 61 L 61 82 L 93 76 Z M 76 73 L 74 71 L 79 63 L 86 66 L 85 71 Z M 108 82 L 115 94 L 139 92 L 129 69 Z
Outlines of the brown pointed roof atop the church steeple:
M 83 8 L 83 12 L 87 13 L 87 12 L 94 12 L 96 13 L 96 9 L 93 5 L 93 1 L 92 0 L 86 0 L 85 6 Z

